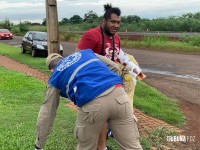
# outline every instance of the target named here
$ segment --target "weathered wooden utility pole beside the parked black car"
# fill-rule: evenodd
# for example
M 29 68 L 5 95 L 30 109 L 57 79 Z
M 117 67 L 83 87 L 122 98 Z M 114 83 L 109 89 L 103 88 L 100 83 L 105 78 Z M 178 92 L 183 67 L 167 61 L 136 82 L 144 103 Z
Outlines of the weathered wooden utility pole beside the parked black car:
M 56 0 L 46 0 L 48 54 L 60 53 L 59 26 Z

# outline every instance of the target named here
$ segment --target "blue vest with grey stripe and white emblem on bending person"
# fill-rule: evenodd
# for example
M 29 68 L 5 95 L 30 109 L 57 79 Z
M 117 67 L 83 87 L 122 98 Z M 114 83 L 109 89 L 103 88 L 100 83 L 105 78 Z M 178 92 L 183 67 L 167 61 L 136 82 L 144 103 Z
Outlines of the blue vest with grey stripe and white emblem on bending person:
M 121 77 L 109 70 L 90 49 L 63 58 L 48 83 L 60 89 L 61 96 L 69 98 L 79 107 L 110 87 L 123 84 Z

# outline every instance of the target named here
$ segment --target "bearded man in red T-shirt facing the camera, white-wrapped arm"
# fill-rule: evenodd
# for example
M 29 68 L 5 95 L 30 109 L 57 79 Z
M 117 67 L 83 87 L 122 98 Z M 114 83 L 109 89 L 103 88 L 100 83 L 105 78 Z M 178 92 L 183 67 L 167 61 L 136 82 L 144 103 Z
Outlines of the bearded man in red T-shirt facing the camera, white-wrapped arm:
M 120 38 L 116 34 L 121 22 L 121 11 L 117 7 L 112 7 L 111 4 L 104 5 L 105 13 L 103 15 L 102 24 L 96 28 L 85 32 L 79 41 L 76 50 L 92 49 L 95 53 L 100 54 L 119 64 L 122 70 L 122 78 L 125 91 L 130 99 L 130 106 L 133 110 L 133 96 L 135 91 L 136 80 L 138 75 L 136 70 L 131 70 L 138 65 L 133 56 L 125 54 L 120 48 Z M 132 57 L 132 60 L 130 59 Z M 133 63 L 134 62 L 134 63 Z M 140 73 L 138 76 L 143 79 L 145 75 Z M 136 117 L 135 117 L 136 119 Z M 137 119 L 136 119 L 137 120 Z M 98 150 L 106 150 L 106 137 L 108 125 L 105 123 L 98 140 Z

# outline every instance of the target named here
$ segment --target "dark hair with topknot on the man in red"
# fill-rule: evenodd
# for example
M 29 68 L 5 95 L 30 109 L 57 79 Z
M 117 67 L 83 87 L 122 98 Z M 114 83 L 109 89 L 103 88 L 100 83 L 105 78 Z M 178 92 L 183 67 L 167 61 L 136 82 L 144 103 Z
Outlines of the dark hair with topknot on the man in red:
M 104 15 L 103 17 L 108 20 L 111 18 L 111 14 L 116 14 L 117 16 L 121 15 L 121 10 L 118 7 L 112 7 L 112 4 L 104 5 Z

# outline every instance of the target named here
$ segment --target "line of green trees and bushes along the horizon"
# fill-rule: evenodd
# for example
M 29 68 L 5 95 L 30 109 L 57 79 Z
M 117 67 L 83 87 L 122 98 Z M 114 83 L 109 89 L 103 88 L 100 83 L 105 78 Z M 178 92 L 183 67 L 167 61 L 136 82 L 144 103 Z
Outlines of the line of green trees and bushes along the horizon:
M 62 18 L 59 21 L 61 28 L 70 31 L 85 31 L 101 24 L 102 16 L 98 16 L 92 10 L 85 13 L 82 18 L 79 15 L 73 15 L 71 18 Z M 46 19 L 40 23 L 31 23 L 28 21 L 20 22 L 19 26 L 26 28 L 26 25 L 46 26 Z M 0 28 L 11 29 L 15 26 L 5 19 L 0 22 Z M 144 32 L 144 31 L 167 31 L 167 32 L 200 32 L 200 12 L 187 13 L 182 16 L 170 16 L 167 18 L 147 19 L 137 15 L 121 16 L 121 25 L 119 31 Z

